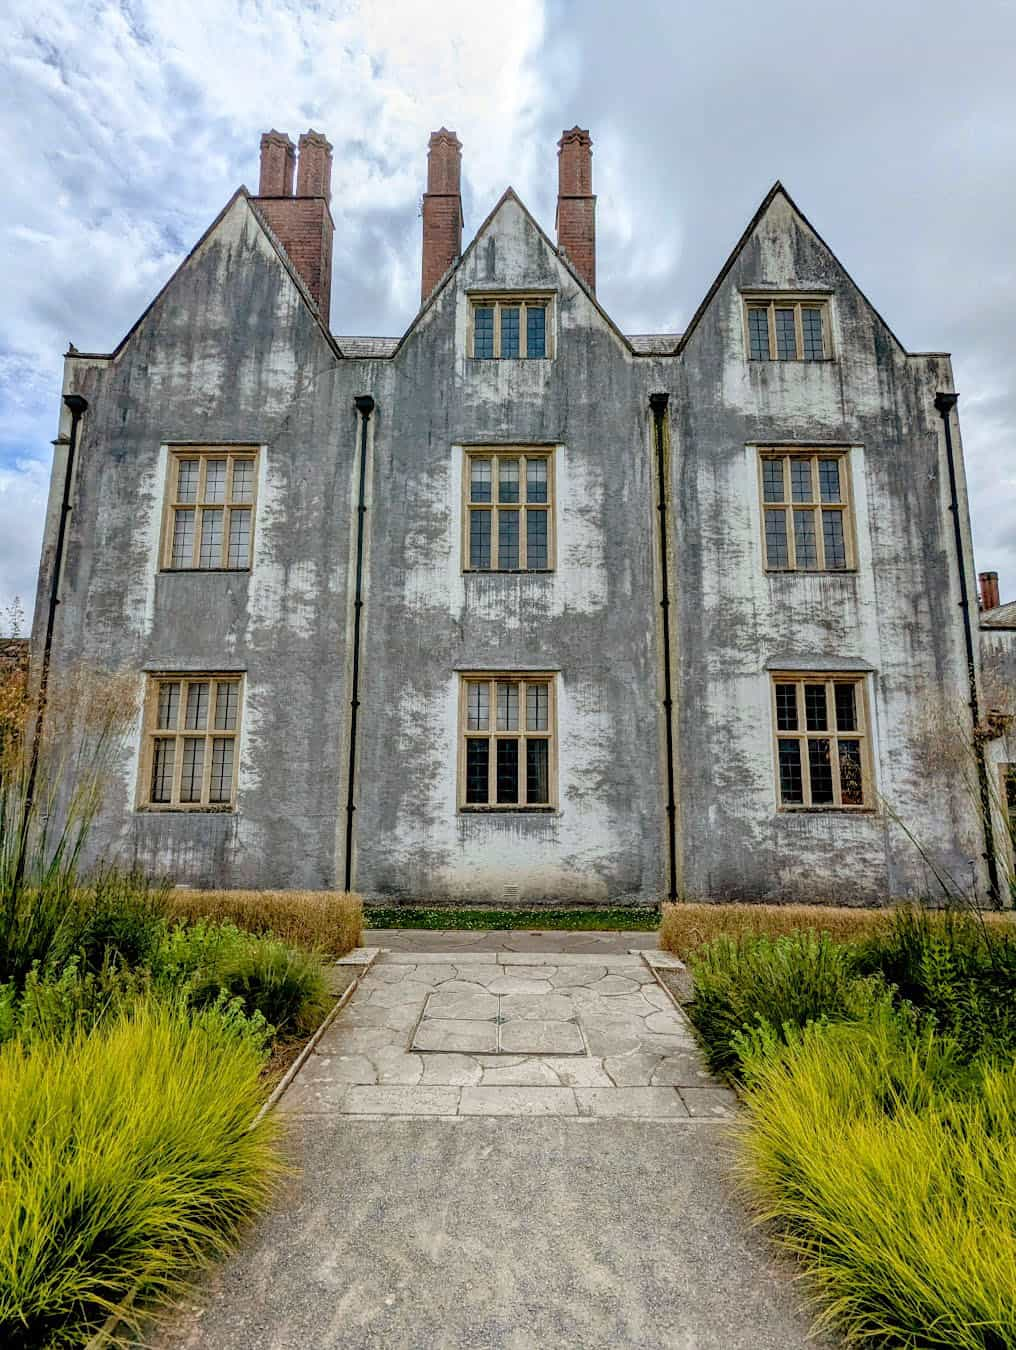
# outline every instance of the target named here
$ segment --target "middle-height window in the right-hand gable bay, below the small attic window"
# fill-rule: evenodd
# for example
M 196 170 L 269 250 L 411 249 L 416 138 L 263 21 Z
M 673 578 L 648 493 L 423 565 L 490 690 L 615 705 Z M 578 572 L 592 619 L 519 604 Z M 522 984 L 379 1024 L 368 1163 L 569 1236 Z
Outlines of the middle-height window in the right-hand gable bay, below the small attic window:
M 762 537 L 768 571 L 854 567 L 845 451 L 764 451 Z

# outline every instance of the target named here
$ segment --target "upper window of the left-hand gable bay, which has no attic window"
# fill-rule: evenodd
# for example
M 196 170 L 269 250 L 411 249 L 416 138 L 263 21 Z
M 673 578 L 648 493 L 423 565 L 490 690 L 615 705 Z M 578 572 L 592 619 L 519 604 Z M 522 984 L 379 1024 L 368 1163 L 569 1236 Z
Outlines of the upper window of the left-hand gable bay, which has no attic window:
M 170 451 L 163 568 L 250 567 L 256 493 L 256 450 Z

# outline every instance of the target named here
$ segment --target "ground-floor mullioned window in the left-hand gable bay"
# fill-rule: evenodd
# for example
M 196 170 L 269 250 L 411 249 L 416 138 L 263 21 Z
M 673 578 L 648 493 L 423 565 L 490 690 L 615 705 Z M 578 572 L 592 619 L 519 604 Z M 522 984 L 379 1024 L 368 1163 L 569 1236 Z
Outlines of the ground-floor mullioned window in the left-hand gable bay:
M 239 675 L 150 676 L 139 794 L 143 806 L 232 807 L 242 705 Z

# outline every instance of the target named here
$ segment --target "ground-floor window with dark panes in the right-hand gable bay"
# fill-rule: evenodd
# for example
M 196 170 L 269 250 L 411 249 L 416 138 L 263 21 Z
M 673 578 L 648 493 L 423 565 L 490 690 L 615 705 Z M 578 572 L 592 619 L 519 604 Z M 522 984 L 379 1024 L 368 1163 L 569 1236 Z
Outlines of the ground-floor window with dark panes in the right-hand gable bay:
M 864 679 L 773 675 L 776 782 L 781 807 L 872 806 Z

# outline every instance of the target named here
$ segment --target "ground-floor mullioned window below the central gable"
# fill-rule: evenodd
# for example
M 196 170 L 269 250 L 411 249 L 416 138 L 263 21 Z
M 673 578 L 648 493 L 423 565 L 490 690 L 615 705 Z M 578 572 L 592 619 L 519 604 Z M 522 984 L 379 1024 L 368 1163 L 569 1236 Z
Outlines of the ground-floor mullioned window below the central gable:
M 460 810 L 556 805 L 553 675 L 463 675 L 459 726 Z

